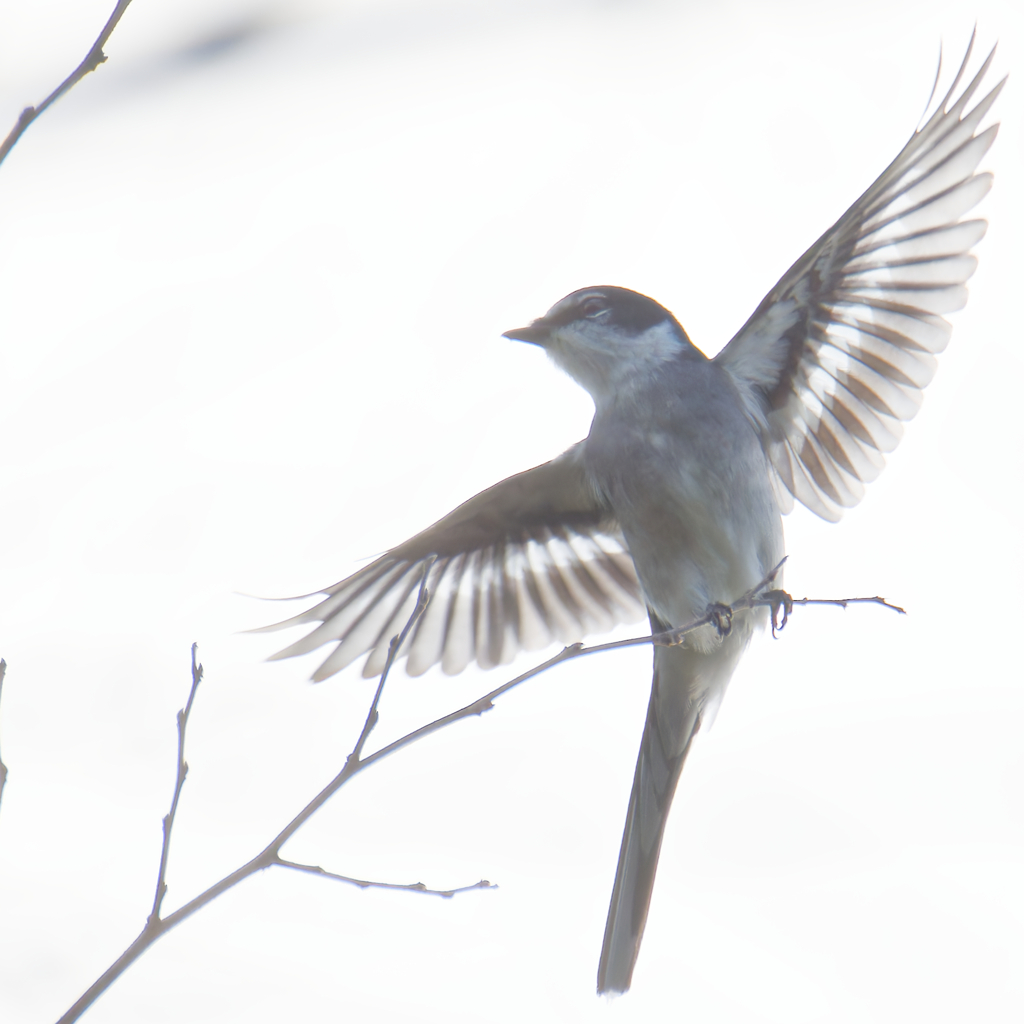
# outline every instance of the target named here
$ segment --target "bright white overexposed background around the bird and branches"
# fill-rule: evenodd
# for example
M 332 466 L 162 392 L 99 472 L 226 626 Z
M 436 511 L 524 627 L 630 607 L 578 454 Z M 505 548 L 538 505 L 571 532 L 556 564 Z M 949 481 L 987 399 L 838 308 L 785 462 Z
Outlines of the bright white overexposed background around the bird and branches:
M 110 6 L 0 10 L 0 127 Z M 340 767 L 371 684 L 265 664 L 289 637 L 237 631 L 288 606 L 238 592 L 333 584 L 582 437 L 589 399 L 500 337 L 564 293 L 637 288 L 717 350 L 905 141 L 940 38 L 952 62 L 977 18 L 992 84 L 1020 68 L 1016 7 L 135 0 L 0 169 L 0 1018 L 55 1019 L 141 927 L 193 640 L 166 909 Z M 910 614 L 755 643 L 683 775 L 634 990 L 593 994 L 646 650 L 381 764 L 286 848 L 501 888 L 270 872 L 90 1021 L 1022 1019 L 1019 86 L 924 410 L 843 523 L 786 520 L 798 596 Z M 512 672 L 396 674 L 374 740 Z

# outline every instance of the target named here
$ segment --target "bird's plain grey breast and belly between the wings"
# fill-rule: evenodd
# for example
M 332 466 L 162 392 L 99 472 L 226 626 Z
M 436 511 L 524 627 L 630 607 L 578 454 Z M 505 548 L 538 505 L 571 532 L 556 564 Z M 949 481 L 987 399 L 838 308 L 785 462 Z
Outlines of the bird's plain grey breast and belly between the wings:
M 767 461 L 714 364 L 680 360 L 617 395 L 598 410 L 586 455 L 667 621 L 734 600 L 781 558 Z

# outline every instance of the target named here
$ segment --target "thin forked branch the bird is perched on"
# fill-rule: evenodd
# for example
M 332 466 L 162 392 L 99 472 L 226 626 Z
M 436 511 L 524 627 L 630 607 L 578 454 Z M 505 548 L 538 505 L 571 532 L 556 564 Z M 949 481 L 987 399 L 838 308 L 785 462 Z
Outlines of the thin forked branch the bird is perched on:
M 164 894 L 167 890 L 165 876 L 167 870 L 167 855 L 170 848 L 171 828 L 174 824 L 174 813 L 177 809 L 178 797 L 180 796 L 181 786 L 184 783 L 185 774 L 188 770 L 184 761 L 185 726 L 187 725 L 188 714 L 191 711 L 196 689 L 199 686 L 199 682 L 203 675 L 202 666 L 197 666 L 196 664 L 196 647 L 193 645 L 193 688 L 188 696 L 188 703 L 185 706 L 183 711 L 178 712 L 177 781 L 174 787 L 174 797 L 171 802 L 171 811 L 167 817 L 164 818 L 164 845 L 161 853 L 160 872 L 157 881 L 157 894 L 154 899 L 153 912 L 150 914 L 146 920 L 145 927 L 139 933 L 135 941 L 98 979 L 96 979 L 96 981 L 89 987 L 82 997 L 63 1015 L 63 1017 L 60 1018 L 57 1024 L 70 1024 L 70 1022 L 78 1020 L 82 1013 L 95 1000 L 95 998 L 102 993 L 135 959 L 137 959 L 138 956 L 145 951 L 145 949 L 147 949 L 158 938 L 160 938 L 160 936 L 169 932 L 186 918 L 191 916 L 191 914 L 194 914 L 197 910 L 206 906 L 207 903 L 215 900 L 221 893 L 233 888 L 251 874 L 255 874 L 257 871 L 262 871 L 267 867 L 287 867 L 296 871 L 305 871 L 310 874 L 322 876 L 326 879 L 333 879 L 337 882 L 346 882 L 362 889 L 403 889 L 411 892 L 420 892 L 444 897 L 451 897 L 456 893 L 467 892 L 471 889 L 497 888 L 485 880 L 481 880 L 474 885 L 461 886 L 457 889 L 446 890 L 428 889 L 425 885 L 423 885 L 423 883 L 420 882 L 410 885 L 401 885 L 392 882 L 369 882 L 364 879 L 354 879 L 345 874 L 336 874 L 335 872 L 328 871 L 315 864 L 300 864 L 295 861 L 285 860 L 281 856 L 281 848 L 353 775 L 358 774 L 360 771 L 369 768 L 370 765 L 375 764 L 377 761 L 387 757 L 389 754 L 394 754 L 403 746 L 408 746 L 410 743 L 414 743 L 418 739 L 422 739 L 424 736 L 427 736 L 432 732 L 437 732 L 438 730 L 443 729 L 455 722 L 461 721 L 464 718 L 469 718 L 473 715 L 481 715 L 483 712 L 489 711 L 494 707 L 494 701 L 498 697 L 507 693 L 520 683 L 524 683 L 527 679 L 532 679 L 535 676 L 539 676 L 542 672 L 546 672 L 548 669 L 551 669 L 562 662 L 569 662 L 573 658 L 582 657 L 585 654 L 596 654 L 605 650 L 614 650 L 618 647 L 633 647 L 641 644 L 675 646 L 682 643 L 688 634 L 707 626 L 714 626 L 720 634 L 725 635 L 732 628 L 732 620 L 737 612 L 758 607 L 767 607 L 770 609 L 773 632 L 777 632 L 785 627 L 788 616 L 792 613 L 794 606 L 797 604 L 838 604 L 845 608 L 851 603 L 873 603 L 881 604 L 887 608 L 892 608 L 894 611 L 904 613 L 902 608 L 889 604 L 881 597 L 839 599 L 816 599 L 805 597 L 795 600 L 785 591 L 772 589 L 771 586 L 775 581 L 775 578 L 778 575 L 779 569 L 781 569 L 784 561 L 785 559 L 783 559 L 782 562 L 779 562 L 779 564 L 776 565 L 775 568 L 772 569 L 772 571 L 757 585 L 757 587 L 753 587 L 740 598 L 733 601 L 732 604 L 714 604 L 709 607 L 708 612 L 703 616 L 689 623 L 686 626 L 668 630 L 665 633 L 655 633 L 645 637 L 634 637 L 629 640 L 616 640 L 611 643 L 595 644 L 590 647 L 585 647 L 582 643 L 571 644 L 570 646 L 563 648 L 559 653 L 555 654 L 554 657 L 550 657 L 547 662 L 543 662 L 541 665 L 535 666 L 527 672 L 522 673 L 522 675 L 516 676 L 515 679 L 509 680 L 507 683 L 503 683 L 501 686 L 490 690 L 489 693 L 485 693 L 479 699 L 466 705 L 465 708 L 460 708 L 451 715 L 445 715 L 443 718 L 438 718 L 427 725 L 421 726 L 419 729 L 415 729 L 413 732 L 407 733 L 404 736 L 395 739 L 393 742 L 385 744 L 373 754 L 364 757 L 362 749 L 366 745 L 374 726 L 377 724 L 378 706 L 380 703 L 381 694 L 384 691 L 384 685 L 387 682 L 388 674 L 394 665 L 398 651 L 406 642 L 406 639 L 412 632 L 413 628 L 416 626 L 420 616 L 423 614 L 427 607 L 427 602 L 430 599 L 426 582 L 427 573 L 429 572 L 432 560 L 427 561 L 423 566 L 422 574 L 420 577 L 420 591 L 416 607 L 413 609 L 413 613 L 410 615 L 409 621 L 406 623 L 401 633 L 393 637 L 390 645 L 388 646 L 387 660 L 384 665 L 384 671 L 381 674 L 380 682 L 377 685 L 373 700 L 371 701 L 366 721 L 362 724 L 362 729 L 359 732 L 358 738 L 356 739 L 351 753 L 345 759 L 344 767 L 342 767 L 341 771 L 339 771 L 338 774 L 335 775 L 335 777 L 311 801 L 309 801 L 309 803 L 306 804 L 306 806 L 303 807 L 294 818 L 292 818 L 292 820 L 270 841 L 270 843 L 252 858 L 252 860 L 243 864 L 230 874 L 225 876 L 195 899 L 180 906 L 173 913 L 168 914 L 166 918 L 161 918 L 160 907 Z

